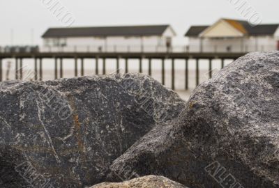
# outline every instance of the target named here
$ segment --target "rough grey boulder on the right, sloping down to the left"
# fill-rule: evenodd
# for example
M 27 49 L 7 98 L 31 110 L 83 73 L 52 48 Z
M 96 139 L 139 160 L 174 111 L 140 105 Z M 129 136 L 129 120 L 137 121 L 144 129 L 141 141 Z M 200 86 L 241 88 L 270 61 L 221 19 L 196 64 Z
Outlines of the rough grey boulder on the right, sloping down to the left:
M 107 180 L 133 173 L 188 187 L 279 187 L 279 52 L 237 59 L 186 106 L 116 159 Z

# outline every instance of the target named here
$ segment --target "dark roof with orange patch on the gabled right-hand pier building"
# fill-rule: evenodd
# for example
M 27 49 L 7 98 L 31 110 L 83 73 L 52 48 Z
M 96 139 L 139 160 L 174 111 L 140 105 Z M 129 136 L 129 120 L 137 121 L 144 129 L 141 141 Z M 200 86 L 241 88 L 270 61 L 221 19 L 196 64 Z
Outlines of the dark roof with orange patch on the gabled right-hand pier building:
M 272 36 L 279 24 L 259 24 L 251 26 L 248 22 L 238 19 L 223 19 L 235 29 L 247 36 Z M 209 26 L 191 26 L 185 36 L 199 36 Z

